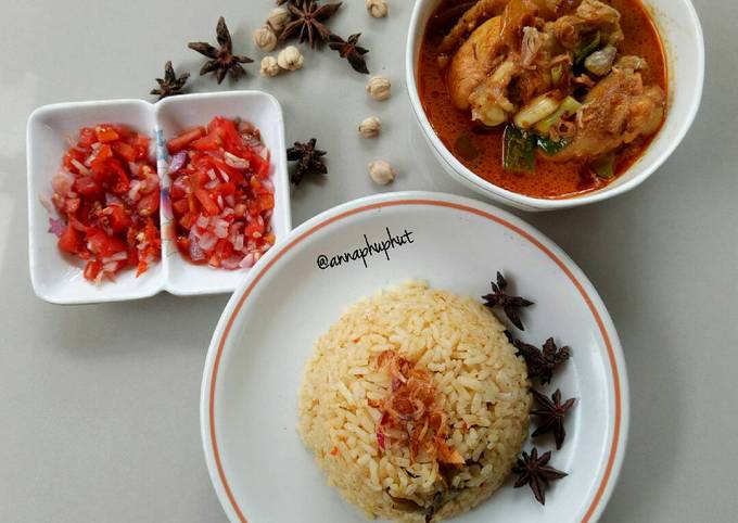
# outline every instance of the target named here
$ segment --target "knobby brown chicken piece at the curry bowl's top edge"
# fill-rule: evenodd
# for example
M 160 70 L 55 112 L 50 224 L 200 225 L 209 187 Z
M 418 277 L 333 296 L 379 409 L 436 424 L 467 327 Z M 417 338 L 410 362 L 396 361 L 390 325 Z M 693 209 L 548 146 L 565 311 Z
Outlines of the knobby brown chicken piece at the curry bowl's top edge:
M 587 37 L 597 31 L 600 33 L 602 42 L 614 47 L 625 38 L 618 10 L 599 0 L 584 0 L 574 14 L 546 24 L 545 30 L 570 51 L 580 49 Z

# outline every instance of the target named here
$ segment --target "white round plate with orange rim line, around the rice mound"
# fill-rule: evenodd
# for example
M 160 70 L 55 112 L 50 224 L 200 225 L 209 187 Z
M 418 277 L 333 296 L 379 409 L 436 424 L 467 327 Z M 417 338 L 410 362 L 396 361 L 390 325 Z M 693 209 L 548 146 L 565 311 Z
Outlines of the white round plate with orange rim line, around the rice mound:
M 326 259 L 411 232 L 384 254 L 321 269 Z M 322 258 L 321 256 L 327 256 Z M 493 206 L 434 193 L 372 196 L 298 227 L 254 267 L 231 297 L 211 343 L 202 383 L 205 458 L 232 522 L 361 522 L 326 485 L 296 432 L 297 392 L 313 343 L 362 296 L 409 279 L 457 294 L 489 291 L 497 270 L 536 302 L 520 336 L 555 336 L 572 359 L 546 391 L 578 401 L 551 464 L 570 472 L 547 495 L 509 485 L 459 522 L 593 522 L 618 477 L 628 392 L 618 334 L 597 292 L 552 242 Z M 530 444 L 526 444 L 530 448 Z

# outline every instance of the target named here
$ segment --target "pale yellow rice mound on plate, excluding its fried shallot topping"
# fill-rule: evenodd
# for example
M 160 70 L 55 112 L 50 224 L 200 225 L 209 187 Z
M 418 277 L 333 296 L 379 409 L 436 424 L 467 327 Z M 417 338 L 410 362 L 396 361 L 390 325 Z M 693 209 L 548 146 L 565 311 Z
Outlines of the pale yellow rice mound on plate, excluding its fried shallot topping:
M 315 344 L 300 394 L 300 433 L 344 498 L 370 518 L 437 521 L 467 511 L 508 476 L 527 436 L 531 397 L 522 358 L 481 303 L 410 282 L 353 305 Z M 410 460 L 380 448 L 391 394 L 378 356 L 395 350 L 428 371 L 441 398 L 446 443 L 465 464 Z M 450 472 L 449 472 L 450 470 Z

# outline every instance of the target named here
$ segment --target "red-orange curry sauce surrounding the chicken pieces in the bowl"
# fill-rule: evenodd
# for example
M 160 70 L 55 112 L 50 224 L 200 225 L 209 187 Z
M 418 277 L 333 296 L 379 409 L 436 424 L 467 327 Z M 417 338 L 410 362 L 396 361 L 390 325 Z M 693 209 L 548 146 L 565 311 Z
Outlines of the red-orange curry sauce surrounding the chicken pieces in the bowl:
M 458 1 L 444 1 L 436 13 Z M 657 85 L 667 92 L 667 71 L 663 44 L 658 29 L 639 0 L 609 0 L 606 3 L 621 14 L 625 36 L 619 53 L 646 60 L 648 69 L 640 72 L 644 84 Z M 581 161 L 556 163 L 538 155 L 535 173 L 508 171 L 502 167 L 504 126 L 486 128 L 475 123 L 468 111 L 451 103 L 446 85 L 446 69 L 437 62 L 437 47 L 446 28 L 425 30 L 418 64 L 420 100 L 431 126 L 446 148 L 470 170 L 483 179 L 509 191 L 546 199 L 571 197 L 605 187 L 626 171 L 652 140 L 637 139 L 623 146 L 615 156 L 615 177 L 606 180 L 594 176 Z

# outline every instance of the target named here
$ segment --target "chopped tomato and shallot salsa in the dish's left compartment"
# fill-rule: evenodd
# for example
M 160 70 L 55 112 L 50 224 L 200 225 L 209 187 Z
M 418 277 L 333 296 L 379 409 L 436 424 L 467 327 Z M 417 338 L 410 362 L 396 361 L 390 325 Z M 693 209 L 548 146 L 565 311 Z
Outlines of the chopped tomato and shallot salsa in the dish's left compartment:
M 59 248 L 86 260 L 84 275 L 100 283 L 126 267 L 136 276 L 162 257 L 156 169 L 149 137 L 122 125 L 84 127 L 51 180 L 50 218 Z

